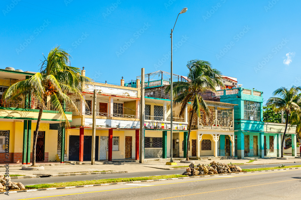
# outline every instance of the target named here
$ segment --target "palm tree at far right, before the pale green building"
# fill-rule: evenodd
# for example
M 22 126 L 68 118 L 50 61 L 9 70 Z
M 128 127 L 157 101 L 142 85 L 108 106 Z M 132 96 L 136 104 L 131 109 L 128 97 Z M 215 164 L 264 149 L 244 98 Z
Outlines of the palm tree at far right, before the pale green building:
M 276 112 L 280 112 L 281 110 L 285 111 L 286 113 L 286 121 L 285 121 L 285 129 L 284 134 L 281 142 L 281 158 L 283 158 L 283 146 L 284 146 L 284 137 L 285 133 L 287 131 L 287 124 L 289 120 L 289 115 L 292 112 L 300 112 L 300 106 L 301 104 L 301 97 L 299 95 L 299 92 L 301 91 L 301 87 L 293 86 L 290 89 L 287 89 L 285 87 L 278 88 L 273 92 L 274 97 L 270 97 L 266 105 L 273 106 L 273 109 Z M 278 97 L 275 97 L 278 96 Z

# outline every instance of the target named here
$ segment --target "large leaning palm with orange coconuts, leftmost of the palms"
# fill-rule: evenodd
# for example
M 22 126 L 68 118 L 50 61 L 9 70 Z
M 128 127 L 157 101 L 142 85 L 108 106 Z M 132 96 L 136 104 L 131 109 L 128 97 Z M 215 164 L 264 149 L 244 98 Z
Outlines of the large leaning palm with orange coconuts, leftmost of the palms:
M 84 101 L 80 89 L 82 84 L 90 79 L 82 76 L 79 68 L 68 66 L 70 58 L 71 56 L 63 49 L 55 47 L 48 53 L 47 57 L 44 56 L 45 60 L 41 63 L 40 72 L 29 79 L 21 80 L 11 85 L 3 94 L 5 105 L 8 105 L 17 98 L 31 95 L 33 99 L 32 107 L 39 109 L 36 132 L 33 136 L 32 166 L 36 165 L 36 142 L 47 98 L 50 97 L 52 108 L 61 114 L 62 125 L 67 130 L 70 127 L 70 123 L 65 115 L 63 105 L 68 105 L 73 111 L 79 114 L 76 105 L 67 94 L 74 95 L 77 99 Z

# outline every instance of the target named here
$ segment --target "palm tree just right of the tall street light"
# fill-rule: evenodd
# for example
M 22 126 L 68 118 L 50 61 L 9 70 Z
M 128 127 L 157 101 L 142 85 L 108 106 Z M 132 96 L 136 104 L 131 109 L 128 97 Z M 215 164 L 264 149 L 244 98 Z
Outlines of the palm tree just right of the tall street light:
M 188 142 L 190 139 L 190 131 L 192 126 L 192 119 L 194 113 L 200 117 L 200 111 L 203 110 L 206 114 L 209 114 L 210 110 L 203 100 L 201 94 L 206 91 L 216 91 L 216 86 L 223 86 L 222 82 L 222 73 L 219 70 L 213 69 L 211 64 L 207 61 L 202 60 L 191 60 L 188 61 L 186 65 L 188 72 L 188 81 L 183 82 L 178 81 L 174 82 L 173 94 L 174 94 L 174 105 L 182 104 L 180 110 L 180 116 L 183 116 L 185 108 L 190 102 L 192 102 L 191 117 L 189 120 L 189 130 L 187 138 L 187 150 L 186 150 L 186 160 L 189 160 L 188 157 Z M 170 93 L 170 85 L 165 89 L 165 93 Z

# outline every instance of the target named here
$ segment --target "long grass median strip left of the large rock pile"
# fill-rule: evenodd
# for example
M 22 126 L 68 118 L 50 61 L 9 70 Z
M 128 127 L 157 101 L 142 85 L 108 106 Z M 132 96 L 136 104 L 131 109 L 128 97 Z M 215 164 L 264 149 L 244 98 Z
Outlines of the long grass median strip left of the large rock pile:
M 129 182 L 129 181 L 146 181 L 154 179 L 163 179 L 163 178 L 179 178 L 187 177 L 185 175 L 164 175 L 164 176 L 147 176 L 147 177 L 135 177 L 135 178 L 110 178 L 110 179 L 101 179 L 101 180 L 91 180 L 91 181 L 72 181 L 65 183 L 52 183 L 52 184 L 37 184 L 37 185 L 27 185 L 25 189 L 42 189 L 42 188 L 51 188 L 51 187 L 70 187 L 70 186 L 80 186 L 80 185 L 95 185 L 95 184 L 108 184 L 108 183 L 120 183 L 120 182 Z

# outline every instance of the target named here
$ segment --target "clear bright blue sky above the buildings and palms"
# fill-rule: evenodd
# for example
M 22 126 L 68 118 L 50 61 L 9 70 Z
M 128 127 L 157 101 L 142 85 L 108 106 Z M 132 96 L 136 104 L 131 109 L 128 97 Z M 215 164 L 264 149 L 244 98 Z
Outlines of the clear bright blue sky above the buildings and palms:
M 265 100 L 278 87 L 301 85 L 301 1 L 284 0 L 0 0 L 0 68 L 38 71 L 42 54 L 60 45 L 99 82 L 135 79 L 141 67 L 169 71 L 169 33 L 183 7 L 175 74 L 185 76 L 189 60 L 209 61 Z

